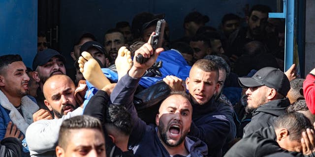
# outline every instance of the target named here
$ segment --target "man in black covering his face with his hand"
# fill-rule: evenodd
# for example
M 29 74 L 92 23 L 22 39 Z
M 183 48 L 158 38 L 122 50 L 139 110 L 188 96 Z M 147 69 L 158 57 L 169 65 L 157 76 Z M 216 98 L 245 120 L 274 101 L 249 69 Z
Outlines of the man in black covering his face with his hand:
M 290 112 L 276 118 L 273 127 L 260 129 L 241 139 L 224 157 L 265 157 L 274 153 L 314 157 L 314 143 L 310 120 L 302 113 Z

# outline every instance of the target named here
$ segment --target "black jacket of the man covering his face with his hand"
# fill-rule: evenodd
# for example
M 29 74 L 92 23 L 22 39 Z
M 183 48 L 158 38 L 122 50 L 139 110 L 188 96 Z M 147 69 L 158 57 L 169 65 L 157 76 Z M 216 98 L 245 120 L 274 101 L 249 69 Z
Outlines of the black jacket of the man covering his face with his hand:
M 265 157 L 278 152 L 289 153 L 294 157 L 304 157 L 302 153 L 283 150 L 276 141 L 276 132 L 273 127 L 260 129 L 244 137 L 224 157 Z M 305 157 L 314 157 L 314 154 Z

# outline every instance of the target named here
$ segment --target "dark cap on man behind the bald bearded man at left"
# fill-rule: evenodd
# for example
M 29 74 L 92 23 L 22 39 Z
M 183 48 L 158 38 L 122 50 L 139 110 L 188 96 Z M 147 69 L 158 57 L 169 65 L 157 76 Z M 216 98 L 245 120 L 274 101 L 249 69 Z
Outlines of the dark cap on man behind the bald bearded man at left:
M 59 52 L 53 49 L 45 49 L 43 51 L 37 52 L 33 60 L 33 70 L 37 68 L 37 66 L 42 66 L 46 64 L 52 57 L 57 56 L 62 59 L 63 63 L 65 63 L 65 58 Z

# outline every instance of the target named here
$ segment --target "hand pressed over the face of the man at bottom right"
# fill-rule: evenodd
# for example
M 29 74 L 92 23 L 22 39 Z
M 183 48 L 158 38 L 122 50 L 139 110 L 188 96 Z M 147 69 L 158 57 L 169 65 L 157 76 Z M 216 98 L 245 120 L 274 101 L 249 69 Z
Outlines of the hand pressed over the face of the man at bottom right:
M 306 129 L 306 132 L 302 132 L 301 144 L 304 155 L 310 155 L 312 152 L 315 152 L 315 138 L 313 129 Z

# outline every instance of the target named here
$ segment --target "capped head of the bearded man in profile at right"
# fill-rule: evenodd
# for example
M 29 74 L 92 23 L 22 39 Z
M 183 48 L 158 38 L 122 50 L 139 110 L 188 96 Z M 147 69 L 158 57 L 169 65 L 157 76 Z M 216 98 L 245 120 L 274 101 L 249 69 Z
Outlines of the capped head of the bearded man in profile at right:
M 251 78 L 238 78 L 238 81 L 242 87 L 248 88 L 248 113 L 270 101 L 284 99 L 290 90 L 290 82 L 284 72 L 273 67 L 262 68 Z

